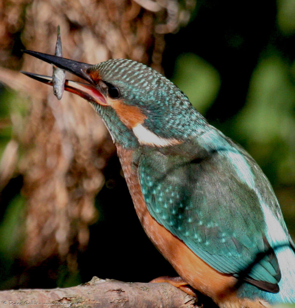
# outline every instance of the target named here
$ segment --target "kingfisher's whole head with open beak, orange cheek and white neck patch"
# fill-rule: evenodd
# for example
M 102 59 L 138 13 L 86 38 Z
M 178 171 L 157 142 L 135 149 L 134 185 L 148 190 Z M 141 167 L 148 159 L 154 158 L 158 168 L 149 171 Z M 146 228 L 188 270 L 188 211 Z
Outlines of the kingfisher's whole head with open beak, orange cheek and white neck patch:
M 95 65 L 24 51 L 87 80 L 66 80 L 65 90 L 87 99 L 103 118 L 116 144 L 165 147 L 182 143 L 206 124 L 188 97 L 163 75 L 129 59 Z M 52 85 L 52 78 L 26 73 Z

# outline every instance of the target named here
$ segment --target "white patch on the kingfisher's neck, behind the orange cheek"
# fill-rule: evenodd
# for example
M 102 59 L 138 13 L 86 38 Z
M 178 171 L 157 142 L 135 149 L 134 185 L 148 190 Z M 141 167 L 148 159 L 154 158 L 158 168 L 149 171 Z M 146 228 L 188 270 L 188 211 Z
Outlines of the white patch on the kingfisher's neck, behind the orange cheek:
M 169 145 L 180 144 L 181 141 L 174 138 L 162 138 L 145 128 L 142 124 L 137 124 L 132 128 L 134 135 L 141 145 L 155 147 L 167 147 Z

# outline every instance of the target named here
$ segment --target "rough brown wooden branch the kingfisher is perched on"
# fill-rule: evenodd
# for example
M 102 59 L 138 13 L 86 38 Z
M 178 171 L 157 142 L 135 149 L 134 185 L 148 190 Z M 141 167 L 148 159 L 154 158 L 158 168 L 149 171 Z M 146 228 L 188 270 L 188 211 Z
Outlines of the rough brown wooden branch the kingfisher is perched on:
M 70 288 L 0 291 L 0 307 L 158 308 L 196 306 L 196 298 L 168 283 L 121 282 L 93 277 Z

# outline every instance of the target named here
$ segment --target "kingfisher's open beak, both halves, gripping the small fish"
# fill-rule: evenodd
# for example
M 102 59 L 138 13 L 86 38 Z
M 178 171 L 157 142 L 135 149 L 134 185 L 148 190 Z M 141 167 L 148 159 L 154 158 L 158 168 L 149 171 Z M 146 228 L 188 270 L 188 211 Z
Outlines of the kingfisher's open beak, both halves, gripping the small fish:
M 41 59 L 45 62 L 51 63 L 52 65 L 55 65 L 56 67 L 59 67 L 65 71 L 68 71 L 72 74 L 75 74 L 85 79 L 91 84 L 81 83 L 81 82 L 66 79 L 65 90 L 71 93 L 77 94 L 92 103 L 98 103 L 100 105 L 107 105 L 106 99 L 104 98 L 103 94 L 99 90 L 96 89 L 95 83 L 93 79 L 91 78 L 90 74 L 88 73 L 88 69 L 92 67 L 91 64 L 82 63 L 82 62 L 78 62 L 78 61 L 74 61 L 74 60 L 70 60 L 70 59 L 66 59 L 66 58 L 62 58 L 62 57 L 58 57 L 54 55 L 43 54 L 37 51 L 23 50 L 23 52 L 29 55 L 32 55 L 38 59 Z M 52 76 L 38 75 L 38 74 L 33 74 L 29 72 L 24 72 L 24 71 L 21 71 L 21 73 L 33 79 L 41 81 L 42 83 L 46 83 L 52 86 Z

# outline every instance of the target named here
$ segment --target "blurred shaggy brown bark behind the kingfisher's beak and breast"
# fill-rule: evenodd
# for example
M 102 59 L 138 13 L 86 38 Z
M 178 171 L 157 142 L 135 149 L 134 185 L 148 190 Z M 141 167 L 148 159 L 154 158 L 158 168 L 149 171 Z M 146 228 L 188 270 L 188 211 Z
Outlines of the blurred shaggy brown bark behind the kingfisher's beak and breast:
M 187 2 L 190 7 L 192 1 Z M 0 80 L 22 93 L 29 111 L 11 115 L 14 133 L 2 156 L 0 189 L 12 176 L 23 176 L 22 259 L 31 265 L 54 254 L 69 257 L 73 243 L 79 249 L 87 245 L 88 225 L 98 216 L 94 198 L 104 184 L 102 170 L 115 148 L 85 101 L 69 93 L 58 101 L 51 87 L 13 71 L 52 75 L 51 65 L 28 55 L 21 63 L 11 46 L 21 40 L 26 49 L 54 54 L 60 25 L 66 58 L 93 64 L 129 58 L 161 71 L 164 33 L 174 31 L 181 18 L 177 1 L 159 3 L 0 0 Z M 69 263 L 74 265 L 74 259 L 69 257 Z

